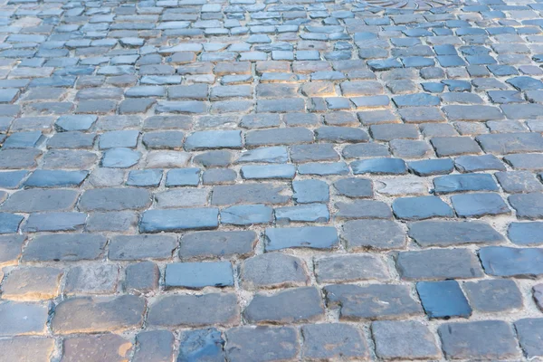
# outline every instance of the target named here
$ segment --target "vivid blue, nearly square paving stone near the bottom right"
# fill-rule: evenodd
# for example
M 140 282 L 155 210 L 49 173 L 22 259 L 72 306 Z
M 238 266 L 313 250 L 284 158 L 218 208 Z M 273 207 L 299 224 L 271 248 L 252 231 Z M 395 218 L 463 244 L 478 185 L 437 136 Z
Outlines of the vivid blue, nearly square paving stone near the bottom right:
M 419 281 L 416 291 L 430 319 L 469 318 L 472 314 L 458 281 Z

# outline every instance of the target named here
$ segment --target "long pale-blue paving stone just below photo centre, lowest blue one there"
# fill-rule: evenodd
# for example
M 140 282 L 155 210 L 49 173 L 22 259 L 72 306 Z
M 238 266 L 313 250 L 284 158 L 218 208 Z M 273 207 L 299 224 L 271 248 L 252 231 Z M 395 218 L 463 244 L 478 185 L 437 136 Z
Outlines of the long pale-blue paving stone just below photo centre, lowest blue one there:
M 266 252 L 289 248 L 332 249 L 339 243 L 338 233 L 329 226 L 267 228 Z

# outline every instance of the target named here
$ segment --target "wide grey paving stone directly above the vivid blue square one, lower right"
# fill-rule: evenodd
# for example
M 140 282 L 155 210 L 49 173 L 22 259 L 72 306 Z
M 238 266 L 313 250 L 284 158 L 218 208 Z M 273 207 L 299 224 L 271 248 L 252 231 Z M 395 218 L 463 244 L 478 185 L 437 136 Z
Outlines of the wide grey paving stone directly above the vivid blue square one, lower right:
M 407 281 L 479 278 L 481 264 L 468 249 L 432 249 L 398 252 L 396 268 Z

